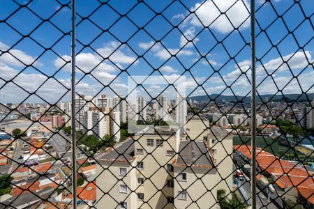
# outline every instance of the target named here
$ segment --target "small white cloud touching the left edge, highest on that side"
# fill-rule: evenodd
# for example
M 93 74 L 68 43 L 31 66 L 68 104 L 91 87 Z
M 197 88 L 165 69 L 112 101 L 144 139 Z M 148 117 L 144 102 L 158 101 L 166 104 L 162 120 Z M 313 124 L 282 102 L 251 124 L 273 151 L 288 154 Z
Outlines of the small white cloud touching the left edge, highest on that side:
M 10 47 L 8 45 L 4 44 L 3 42 L 0 42 L 0 49 L 2 51 L 8 50 Z M 38 61 L 35 61 L 35 58 L 33 56 L 30 56 L 26 54 L 25 52 L 22 52 L 18 49 L 10 49 L 7 53 L 1 54 L 0 61 L 5 63 L 6 65 L 13 65 L 13 66 L 25 66 L 25 65 L 37 65 L 41 66 L 42 64 Z

